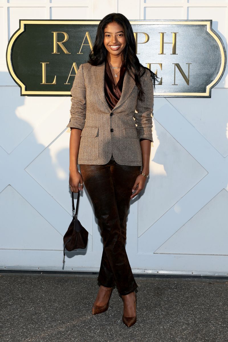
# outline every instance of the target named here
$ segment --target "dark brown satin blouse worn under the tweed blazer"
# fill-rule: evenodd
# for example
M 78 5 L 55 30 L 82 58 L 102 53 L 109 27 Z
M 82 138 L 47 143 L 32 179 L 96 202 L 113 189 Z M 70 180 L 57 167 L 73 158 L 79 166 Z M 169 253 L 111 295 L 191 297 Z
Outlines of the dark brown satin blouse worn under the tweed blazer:
M 123 79 L 124 79 L 125 72 L 126 72 L 126 66 L 122 62 L 120 72 L 119 72 L 119 75 L 120 75 L 119 81 L 117 82 L 117 84 L 115 84 L 108 60 L 106 58 L 104 92 L 105 92 L 105 98 L 106 98 L 107 104 L 110 109 L 113 109 L 120 99 L 122 89 L 123 89 Z M 149 139 L 140 139 L 140 141 L 141 140 L 149 140 Z

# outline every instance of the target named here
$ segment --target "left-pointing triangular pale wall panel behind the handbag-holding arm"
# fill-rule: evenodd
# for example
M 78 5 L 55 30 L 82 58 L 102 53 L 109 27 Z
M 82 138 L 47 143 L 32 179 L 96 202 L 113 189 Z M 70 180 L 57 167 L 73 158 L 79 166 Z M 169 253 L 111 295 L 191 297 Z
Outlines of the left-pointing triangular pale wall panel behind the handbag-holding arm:
M 69 133 L 65 131 L 38 155 L 26 171 L 39 183 L 64 209 L 72 214 L 71 191 L 69 188 Z M 75 207 L 77 194 L 74 194 Z M 90 199 L 83 189 L 80 193 L 78 219 L 92 235 L 93 209 Z M 70 222 L 69 222 L 70 223 Z

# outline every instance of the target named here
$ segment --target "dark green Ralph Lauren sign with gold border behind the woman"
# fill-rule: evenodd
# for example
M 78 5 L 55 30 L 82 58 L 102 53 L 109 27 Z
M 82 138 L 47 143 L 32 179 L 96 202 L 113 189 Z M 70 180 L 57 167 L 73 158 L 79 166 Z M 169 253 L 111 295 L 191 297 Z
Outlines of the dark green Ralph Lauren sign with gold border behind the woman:
M 98 23 L 97 20 L 21 20 L 6 52 L 9 72 L 21 87 L 21 95 L 70 96 L 74 76 L 69 78 L 70 84 L 65 83 L 73 63 L 79 68 L 81 63 L 87 62 L 91 46 L 86 32 L 93 46 Z M 220 81 L 226 67 L 225 47 L 212 29 L 212 20 L 135 20 L 130 23 L 137 35 L 140 63 L 153 72 L 157 70 L 161 80 L 156 85 L 155 96 L 211 97 L 211 89 Z M 59 53 L 53 53 L 53 32 L 66 32 L 69 38 L 63 45 L 70 54 L 59 45 Z M 175 37 L 173 32 L 176 32 Z M 61 42 L 65 36 L 59 33 L 57 38 Z M 42 63 L 47 63 L 46 83 L 52 83 L 56 77 L 56 84 L 41 84 Z M 75 75 L 74 69 L 71 74 Z

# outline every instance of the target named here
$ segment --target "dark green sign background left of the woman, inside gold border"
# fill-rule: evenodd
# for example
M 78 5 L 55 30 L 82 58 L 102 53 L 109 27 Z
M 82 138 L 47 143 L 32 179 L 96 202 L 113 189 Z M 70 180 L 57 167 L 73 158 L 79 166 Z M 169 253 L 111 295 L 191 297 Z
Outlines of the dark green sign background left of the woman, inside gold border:
M 84 45 L 83 54 L 77 54 L 80 51 L 85 33 L 89 31 L 94 42 L 96 30 L 97 25 L 86 25 L 86 27 L 85 25 L 68 25 L 66 29 L 63 25 L 26 24 L 25 34 L 20 35 L 16 40 L 11 57 L 16 75 L 26 84 L 26 90 L 70 91 L 72 85 L 64 83 L 67 81 L 72 64 L 76 62 L 79 68 L 81 63 L 86 62 L 91 51 L 89 45 Z M 59 54 L 52 54 L 54 45 L 52 31 L 67 32 L 69 40 L 64 43 L 64 46 L 71 54 L 65 54 L 59 46 Z M 64 35 L 58 34 L 58 40 L 62 41 L 63 39 Z M 87 39 L 85 43 L 88 44 Z M 53 82 L 56 75 L 57 84 L 40 84 L 42 83 L 41 62 L 49 62 L 46 65 L 47 82 Z M 75 74 L 74 70 L 72 70 L 73 73 Z M 73 83 L 73 77 L 70 77 L 69 82 Z

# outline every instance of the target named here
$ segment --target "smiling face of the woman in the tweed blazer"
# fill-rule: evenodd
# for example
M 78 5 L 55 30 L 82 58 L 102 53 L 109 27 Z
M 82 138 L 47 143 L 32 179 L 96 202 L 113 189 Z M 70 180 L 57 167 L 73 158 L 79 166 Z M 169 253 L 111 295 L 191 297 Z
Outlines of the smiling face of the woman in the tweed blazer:
M 126 46 L 123 27 L 115 22 L 109 23 L 104 29 L 104 44 L 110 55 L 121 55 Z

